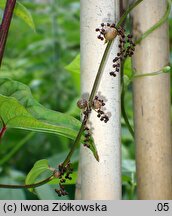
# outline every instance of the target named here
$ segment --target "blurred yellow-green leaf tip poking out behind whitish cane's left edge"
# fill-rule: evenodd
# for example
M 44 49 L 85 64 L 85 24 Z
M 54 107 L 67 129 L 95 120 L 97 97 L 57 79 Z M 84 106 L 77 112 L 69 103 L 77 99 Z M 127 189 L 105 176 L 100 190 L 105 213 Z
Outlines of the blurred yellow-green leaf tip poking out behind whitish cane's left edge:
M 65 69 L 71 73 L 74 86 L 79 94 L 80 93 L 80 55 L 78 54 L 75 57 L 75 59 L 65 67 Z

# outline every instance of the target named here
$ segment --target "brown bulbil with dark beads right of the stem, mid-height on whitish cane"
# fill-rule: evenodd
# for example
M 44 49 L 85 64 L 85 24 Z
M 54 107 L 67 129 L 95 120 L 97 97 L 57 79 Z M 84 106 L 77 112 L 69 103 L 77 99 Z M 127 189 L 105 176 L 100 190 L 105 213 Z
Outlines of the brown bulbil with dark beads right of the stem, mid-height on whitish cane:
M 92 107 L 97 112 L 97 117 L 100 118 L 100 121 L 107 123 L 109 121 L 109 117 L 104 113 L 103 110 L 101 110 L 103 106 L 105 106 L 104 101 L 99 99 L 98 96 L 95 96 Z

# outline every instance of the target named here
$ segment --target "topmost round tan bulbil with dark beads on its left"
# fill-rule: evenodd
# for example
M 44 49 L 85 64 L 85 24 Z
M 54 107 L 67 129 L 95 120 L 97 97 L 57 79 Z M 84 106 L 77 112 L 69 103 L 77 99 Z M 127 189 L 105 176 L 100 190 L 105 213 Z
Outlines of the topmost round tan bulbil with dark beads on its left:
M 96 32 L 99 32 L 97 36 L 100 40 L 111 41 L 118 35 L 118 31 L 115 27 L 115 23 L 102 23 L 101 28 L 96 28 Z

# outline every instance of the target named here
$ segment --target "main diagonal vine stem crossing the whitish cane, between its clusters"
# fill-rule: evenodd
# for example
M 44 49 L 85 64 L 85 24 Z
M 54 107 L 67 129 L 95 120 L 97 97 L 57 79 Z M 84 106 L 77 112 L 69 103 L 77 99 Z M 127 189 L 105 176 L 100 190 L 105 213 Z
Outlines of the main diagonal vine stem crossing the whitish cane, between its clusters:
M 142 1 L 143 0 L 138 0 L 138 1 L 134 2 L 133 4 L 131 4 L 129 6 L 129 8 L 125 11 L 125 13 L 122 15 L 119 22 L 117 23 L 117 27 L 119 27 L 124 22 L 125 18 L 130 13 L 130 11 L 133 10 L 133 8 L 135 8 Z M 93 98 L 95 96 L 95 93 L 97 91 L 97 88 L 98 88 L 98 85 L 99 85 L 99 82 L 100 82 L 100 78 L 101 78 L 101 75 L 102 75 L 102 72 L 103 72 L 103 69 L 104 69 L 104 66 L 105 66 L 106 58 L 108 56 L 108 53 L 109 53 L 109 50 L 111 48 L 112 42 L 113 41 L 110 41 L 106 45 L 106 48 L 105 48 L 101 63 L 99 65 L 99 69 L 98 69 L 98 72 L 97 72 L 93 87 L 92 87 L 92 90 L 91 90 L 91 94 L 90 94 L 90 97 L 89 97 L 89 104 L 92 103 L 92 100 L 93 100 Z M 83 131 L 84 131 L 84 120 L 82 121 L 82 125 L 81 125 L 80 130 L 78 132 L 78 135 L 77 135 L 77 137 L 76 137 L 76 139 L 74 141 L 74 144 L 73 144 L 69 154 L 67 155 L 66 159 L 64 160 L 64 162 L 62 164 L 63 166 L 65 166 L 69 162 L 75 148 L 78 146 L 78 144 L 80 142 Z

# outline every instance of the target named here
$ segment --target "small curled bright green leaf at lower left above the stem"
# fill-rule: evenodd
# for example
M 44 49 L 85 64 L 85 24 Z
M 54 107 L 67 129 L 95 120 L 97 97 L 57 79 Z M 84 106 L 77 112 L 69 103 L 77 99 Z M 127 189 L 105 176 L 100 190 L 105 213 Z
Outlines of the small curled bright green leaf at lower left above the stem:
M 30 172 L 27 174 L 25 184 L 33 184 L 36 182 L 37 178 L 45 171 L 49 170 L 48 161 L 45 159 L 37 161 Z M 32 191 L 33 189 L 29 189 Z

